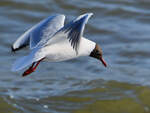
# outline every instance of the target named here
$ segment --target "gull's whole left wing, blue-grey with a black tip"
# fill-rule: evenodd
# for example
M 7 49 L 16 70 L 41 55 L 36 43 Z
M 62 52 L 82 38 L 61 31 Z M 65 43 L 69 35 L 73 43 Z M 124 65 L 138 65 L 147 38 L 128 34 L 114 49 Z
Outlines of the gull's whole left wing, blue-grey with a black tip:
M 44 43 L 48 38 L 54 35 L 60 28 L 64 26 L 65 16 L 58 14 L 49 16 L 36 24 L 23 35 L 21 35 L 16 42 L 12 45 L 12 50 L 18 50 L 30 44 L 30 49 L 36 47 L 39 42 Z

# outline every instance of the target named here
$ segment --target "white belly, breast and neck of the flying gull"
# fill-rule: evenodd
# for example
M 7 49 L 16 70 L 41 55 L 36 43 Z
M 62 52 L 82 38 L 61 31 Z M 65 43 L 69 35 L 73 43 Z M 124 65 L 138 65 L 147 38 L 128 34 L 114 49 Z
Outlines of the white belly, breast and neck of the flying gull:
M 92 47 L 91 47 L 92 46 Z M 59 43 L 52 44 L 42 48 L 42 51 L 46 53 L 45 61 L 58 62 L 65 61 L 79 56 L 87 56 L 93 49 L 95 43 L 85 38 L 82 38 L 78 50 L 78 54 L 71 46 L 68 40 L 60 41 Z

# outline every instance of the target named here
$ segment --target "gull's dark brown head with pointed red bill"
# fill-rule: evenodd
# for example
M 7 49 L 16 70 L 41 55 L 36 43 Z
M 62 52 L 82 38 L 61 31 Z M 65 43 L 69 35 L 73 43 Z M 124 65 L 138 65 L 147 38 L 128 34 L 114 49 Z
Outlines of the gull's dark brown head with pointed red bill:
M 95 45 L 95 48 L 93 49 L 93 51 L 90 54 L 90 57 L 93 57 L 93 58 L 96 58 L 96 59 L 100 60 L 102 62 L 102 64 L 105 67 L 107 67 L 106 62 L 103 59 L 102 49 L 101 49 L 101 47 L 98 44 Z

